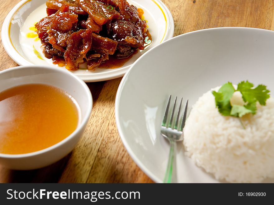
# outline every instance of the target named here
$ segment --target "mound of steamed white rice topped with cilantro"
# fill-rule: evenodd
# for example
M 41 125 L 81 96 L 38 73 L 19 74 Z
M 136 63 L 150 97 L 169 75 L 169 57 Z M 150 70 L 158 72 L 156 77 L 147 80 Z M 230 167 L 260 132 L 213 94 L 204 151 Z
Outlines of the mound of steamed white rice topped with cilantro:
M 235 92 L 233 101 L 241 102 L 241 94 Z M 266 106 L 258 104 L 256 115 L 244 115 L 241 121 L 245 129 L 239 118 L 221 115 L 211 90 L 206 92 L 186 121 L 187 156 L 218 180 L 259 183 L 273 178 L 274 99 L 268 99 Z

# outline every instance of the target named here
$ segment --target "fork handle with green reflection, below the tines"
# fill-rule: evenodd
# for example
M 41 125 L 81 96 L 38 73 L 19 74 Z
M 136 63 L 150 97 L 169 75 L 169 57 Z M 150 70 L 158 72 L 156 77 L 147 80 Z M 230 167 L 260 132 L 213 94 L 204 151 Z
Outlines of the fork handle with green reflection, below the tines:
M 168 167 L 166 170 L 165 178 L 163 183 L 177 183 L 177 169 L 176 169 L 176 154 L 177 154 L 177 143 L 174 140 L 169 140 L 170 150 Z

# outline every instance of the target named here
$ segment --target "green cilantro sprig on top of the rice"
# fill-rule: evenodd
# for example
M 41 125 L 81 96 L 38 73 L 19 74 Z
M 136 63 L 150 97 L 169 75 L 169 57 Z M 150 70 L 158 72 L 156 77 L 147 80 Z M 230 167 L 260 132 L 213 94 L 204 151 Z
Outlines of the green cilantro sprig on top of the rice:
M 234 92 L 240 91 L 245 105 L 231 105 L 230 99 Z M 270 97 L 265 85 L 254 85 L 248 81 L 242 81 L 238 84 L 237 90 L 234 89 L 232 83 L 225 83 L 218 92 L 212 91 L 215 96 L 216 107 L 220 114 L 224 116 L 243 117 L 248 113 L 256 114 L 257 101 L 261 105 L 266 105 L 267 99 Z

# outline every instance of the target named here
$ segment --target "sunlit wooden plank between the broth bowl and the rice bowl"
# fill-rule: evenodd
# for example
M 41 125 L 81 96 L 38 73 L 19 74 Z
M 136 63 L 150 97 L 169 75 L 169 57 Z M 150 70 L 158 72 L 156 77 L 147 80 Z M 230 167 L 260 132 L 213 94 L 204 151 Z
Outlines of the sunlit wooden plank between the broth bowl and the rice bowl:
M 93 104 L 93 111 L 90 122 L 84 136 L 73 150 L 67 167 L 60 179 L 60 182 L 85 183 L 100 148 L 102 134 L 108 129 L 108 122 L 111 120 L 111 113 L 114 107 L 115 90 L 120 79 L 108 81 L 103 87 L 99 98 Z M 111 92 L 114 91 L 114 92 Z

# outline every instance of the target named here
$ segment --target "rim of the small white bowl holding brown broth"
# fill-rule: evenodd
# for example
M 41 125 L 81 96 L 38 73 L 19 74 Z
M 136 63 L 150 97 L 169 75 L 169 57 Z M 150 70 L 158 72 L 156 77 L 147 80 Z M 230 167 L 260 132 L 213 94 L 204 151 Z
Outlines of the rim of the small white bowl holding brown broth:
M 47 147 L 45 149 L 41 149 L 39 151 L 35 151 L 35 152 L 30 152 L 30 153 L 26 153 L 26 154 L 2 154 L 0 153 L 0 158 L 6 158 L 6 159 L 18 159 L 18 158 L 26 158 L 26 157 L 32 157 L 32 156 L 35 156 L 35 155 L 39 155 L 39 154 L 44 154 L 46 152 L 49 152 L 53 149 L 56 149 L 58 148 L 61 144 L 64 144 L 66 143 L 67 141 L 69 141 L 71 138 L 74 137 L 75 134 L 79 133 L 81 129 L 84 128 L 85 124 L 87 124 L 89 118 L 90 118 L 90 115 L 91 115 L 91 112 L 92 112 L 92 105 L 93 105 L 93 100 L 92 100 L 92 94 L 87 86 L 87 84 L 81 80 L 80 78 L 78 78 L 77 76 L 73 75 L 72 73 L 70 72 L 66 72 L 66 70 L 62 70 L 62 69 L 56 69 L 54 67 L 50 67 L 50 66 L 17 66 L 17 67 L 13 67 L 13 68 L 8 68 L 6 70 L 3 70 L 3 71 L 0 71 L 0 75 L 3 74 L 3 73 L 6 73 L 6 72 L 11 72 L 11 71 L 14 71 L 14 70 L 18 70 L 18 69 L 22 69 L 22 68 L 44 68 L 46 70 L 51 70 L 51 71 L 54 71 L 54 72 L 60 72 L 60 73 L 63 73 L 64 75 L 70 75 L 72 76 L 75 81 L 78 81 L 82 87 L 83 87 L 83 90 L 85 92 L 85 94 L 87 95 L 87 105 L 88 105 L 88 112 L 89 115 L 85 115 L 83 120 L 81 121 L 81 123 L 77 126 L 77 128 L 73 131 L 73 133 L 71 133 L 69 136 L 67 136 L 65 139 L 63 139 L 62 141 L 50 146 L 50 147 Z M 52 85 L 54 86 L 54 85 Z M 81 110 L 81 108 L 80 108 Z

